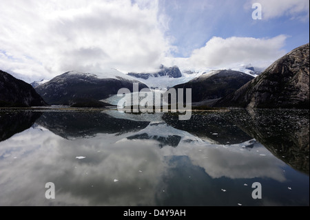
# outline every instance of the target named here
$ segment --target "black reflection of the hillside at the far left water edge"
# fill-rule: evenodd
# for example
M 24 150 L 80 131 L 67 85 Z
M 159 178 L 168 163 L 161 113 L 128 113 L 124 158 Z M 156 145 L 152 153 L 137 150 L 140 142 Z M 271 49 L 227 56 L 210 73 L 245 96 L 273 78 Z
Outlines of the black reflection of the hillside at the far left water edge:
M 0 141 L 30 128 L 41 114 L 26 110 L 0 112 Z

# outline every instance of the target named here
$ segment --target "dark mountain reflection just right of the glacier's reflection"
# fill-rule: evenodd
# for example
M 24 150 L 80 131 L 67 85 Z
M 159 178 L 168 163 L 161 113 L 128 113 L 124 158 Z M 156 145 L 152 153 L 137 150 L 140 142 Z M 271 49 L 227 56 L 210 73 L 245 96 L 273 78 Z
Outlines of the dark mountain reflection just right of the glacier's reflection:
M 253 139 L 236 125 L 225 120 L 220 112 L 192 114 L 187 121 L 179 121 L 177 115 L 164 114 L 163 119 L 170 126 L 219 144 L 242 143 Z

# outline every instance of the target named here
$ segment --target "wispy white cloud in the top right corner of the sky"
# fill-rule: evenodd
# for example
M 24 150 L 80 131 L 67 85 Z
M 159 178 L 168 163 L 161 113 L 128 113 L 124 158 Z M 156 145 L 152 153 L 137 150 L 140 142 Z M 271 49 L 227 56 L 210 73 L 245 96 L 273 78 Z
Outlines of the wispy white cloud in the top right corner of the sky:
M 262 5 L 262 19 L 289 16 L 291 19 L 309 20 L 309 1 L 307 0 L 252 0 Z

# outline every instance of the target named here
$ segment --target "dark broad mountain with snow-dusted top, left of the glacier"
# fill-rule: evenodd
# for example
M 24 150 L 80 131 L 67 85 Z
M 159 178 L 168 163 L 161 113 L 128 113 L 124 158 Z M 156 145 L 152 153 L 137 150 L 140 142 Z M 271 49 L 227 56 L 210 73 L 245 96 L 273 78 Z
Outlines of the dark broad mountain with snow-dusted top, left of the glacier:
M 96 74 L 72 74 L 65 72 L 47 83 L 37 86 L 35 90 L 50 105 L 71 106 L 76 103 L 106 99 L 111 94 L 117 94 L 121 88 L 133 89 L 133 83 L 138 83 L 138 89 L 147 88 L 144 83 L 135 80 L 100 79 Z

